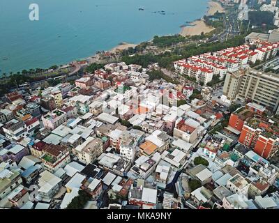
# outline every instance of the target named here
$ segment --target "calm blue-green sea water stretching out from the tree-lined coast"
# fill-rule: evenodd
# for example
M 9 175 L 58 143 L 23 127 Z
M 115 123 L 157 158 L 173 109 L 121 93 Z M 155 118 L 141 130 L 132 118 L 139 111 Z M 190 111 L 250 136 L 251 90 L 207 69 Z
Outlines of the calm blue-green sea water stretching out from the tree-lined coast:
M 121 42 L 141 43 L 156 35 L 179 33 L 179 26 L 206 13 L 207 2 L 1 0 L 0 75 L 61 65 Z M 31 3 L 39 6 L 39 21 L 29 20 Z M 153 13 L 162 10 L 165 15 Z

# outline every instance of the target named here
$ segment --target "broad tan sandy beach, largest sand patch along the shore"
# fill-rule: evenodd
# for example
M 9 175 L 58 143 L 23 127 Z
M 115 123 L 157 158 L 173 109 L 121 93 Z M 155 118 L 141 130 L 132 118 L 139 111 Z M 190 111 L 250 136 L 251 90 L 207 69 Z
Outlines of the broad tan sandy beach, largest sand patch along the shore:
M 214 30 L 213 27 L 207 26 L 203 20 L 197 20 L 190 24 L 191 26 L 183 27 L 181 30 L 181 36 L 196 36 L 203 33 L 209 33 Z

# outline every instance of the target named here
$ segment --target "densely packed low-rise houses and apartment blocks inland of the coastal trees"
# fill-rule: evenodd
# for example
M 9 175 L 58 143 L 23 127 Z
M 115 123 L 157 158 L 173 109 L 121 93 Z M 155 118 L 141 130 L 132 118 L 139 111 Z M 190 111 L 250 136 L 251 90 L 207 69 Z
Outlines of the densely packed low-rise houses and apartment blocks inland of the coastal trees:
M 0 208 L 278 209 L 278 33 L 8 89 Z

